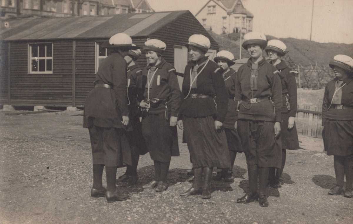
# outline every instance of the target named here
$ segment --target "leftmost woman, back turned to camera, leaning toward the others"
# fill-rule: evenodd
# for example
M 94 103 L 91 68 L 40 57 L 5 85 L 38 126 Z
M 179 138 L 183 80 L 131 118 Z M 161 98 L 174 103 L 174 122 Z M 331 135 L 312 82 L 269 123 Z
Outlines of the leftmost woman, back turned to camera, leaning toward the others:
M 92 146 L 92 197 L 104 197 L 108 202 L 126 200 L 127 195 L 116 190 L 116 168 L 131 165 L 130 145 L 125 134 L 129 123 L 126 89 L 126 61 L 124 56 L 132 46 L 131 38 L 123 33 L 110 37 L 105 47 L 109 56 L 102 60 L 95 88 L 85 101 L 83 127 L 88 128 Z M 107 190 L 102 185 L 104 165 Z

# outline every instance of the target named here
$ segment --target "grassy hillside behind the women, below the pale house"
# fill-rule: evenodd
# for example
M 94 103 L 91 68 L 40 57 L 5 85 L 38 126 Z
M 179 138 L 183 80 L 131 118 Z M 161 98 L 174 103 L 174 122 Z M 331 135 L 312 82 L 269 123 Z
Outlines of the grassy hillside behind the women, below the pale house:
M 229 50 L 235 58 L 239 59 L 239 34 L 218 35 L 212 32 L 211 35 L 219 44 L 220 50 Z M 267 39 L 272 40 L 276 37 L 267 36 Z M 293 62 L 303 66 L 315 65 L 315 62 L 318 65 L 327 65 L 337 54 L 353 56 L 353 44 L 318 43 L 295 38 L 279 38 L 279 40 L 286 44 L 288 56 Z M 241 55 L 249 57 L 244 49 Z

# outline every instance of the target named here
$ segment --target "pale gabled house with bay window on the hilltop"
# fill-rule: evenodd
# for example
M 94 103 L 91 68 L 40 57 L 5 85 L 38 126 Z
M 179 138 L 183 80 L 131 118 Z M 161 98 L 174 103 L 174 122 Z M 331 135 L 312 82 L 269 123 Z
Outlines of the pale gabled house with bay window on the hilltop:
M 209 0 L 195 15 L 207 30 L 216 34 L 252 31 L 253 14 L 241 0 Z

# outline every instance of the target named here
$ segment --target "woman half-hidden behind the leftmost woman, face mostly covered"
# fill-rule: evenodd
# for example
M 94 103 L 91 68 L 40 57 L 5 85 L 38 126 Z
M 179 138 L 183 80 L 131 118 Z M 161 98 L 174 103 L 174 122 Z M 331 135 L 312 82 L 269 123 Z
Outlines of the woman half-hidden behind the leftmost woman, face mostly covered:
M 134 45 L 134 44 L 133 44 Z M 144 155 L 148 152 L 146 149 L 146 143 L 142 136 L 141 122 L 139 119 L 139 108 L 138 103 L 143 100 L 143 91 L 145 86 L 143 86 L 143 75 L 142 68 L 138 65 L 137 59 L 141 56 L 141 50 L 129 50 L 128 55 L 124 58 L 127 62 L 127 101 L 129 108 L 129 129 L 127 138 L 130 143 L 130 148 L 132 152 L 132 165 L 126 166 L 126 172 L 120 176 L 118 182 L 127 182 L 129 185 L 137 183 L 137 165 L 140 155 Z M 142 88 L 143 86 L 143 88 Z

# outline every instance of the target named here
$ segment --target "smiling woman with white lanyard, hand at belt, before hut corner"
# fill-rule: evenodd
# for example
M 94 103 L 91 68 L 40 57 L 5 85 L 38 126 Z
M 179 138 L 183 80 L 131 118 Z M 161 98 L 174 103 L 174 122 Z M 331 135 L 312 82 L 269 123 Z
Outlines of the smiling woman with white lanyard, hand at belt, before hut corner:
M 181 92 L 175 68 L 162 58 L 166 44 L 151 39 L 145 42 L 143 49 L 148 66 L 143 69 L 147 83 L 140 107 L 146 108 L 148 114 L 142 120 L 142 134 L 155 168 L 154 180 L 143 188 L 162 192 L 168 187 L 171 156 L 179 156 L 176 125 Z

